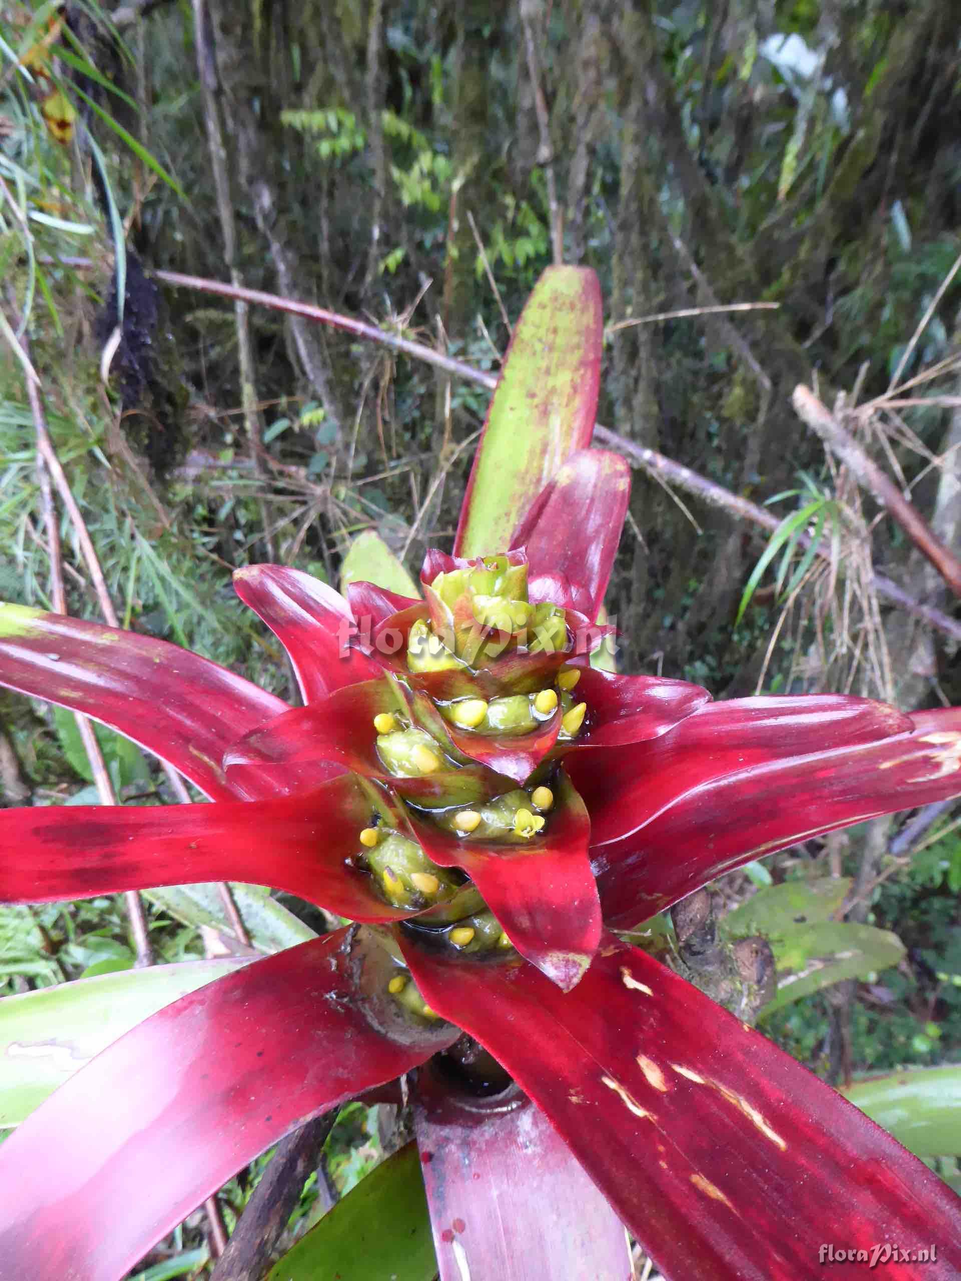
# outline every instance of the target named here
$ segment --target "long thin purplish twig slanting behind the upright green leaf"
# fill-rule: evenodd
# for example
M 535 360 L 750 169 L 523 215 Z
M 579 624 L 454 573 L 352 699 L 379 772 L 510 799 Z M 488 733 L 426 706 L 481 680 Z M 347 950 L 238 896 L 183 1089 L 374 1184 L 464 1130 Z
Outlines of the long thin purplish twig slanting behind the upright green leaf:
M 434 365 L 437 369 L 443 369 L 455 378 L 463 378 L 465 382 L 474 383 L 478 387 L 486 387 L 488 391 L 493 391 L 497 386 L 496 374 L 484 373 L 481 369 L 475 369 L 473 365 L 465 364 L 463 360 L 455 360 L 452 356 L 446 356 L 443 352 L 434 351 L 433 347 L 425 347 L 420 342 L 411 342 L 407 338 L 400 338 L 397 334 L 387 333 L 384 329 L 378 329 L 377 325 L 366 324 L 363 320 L 355 320 L 351 316 L 345 316 L 336 311 L 327 311 L 324 307 L 315 307 L 309 302 L 297 302 L 296 300 L 282 298 L 275 293 L 265 293 L 260 290 L 238 291 L 234 286 L 228 284 L 224 281 L 208 281 L 197 275 L 182 275 L 178 272 L 155 272 L 154 275 L 159 281 L 167 281 L 169 284 L 182 286 L 188 290 L 201 290 L 206 293 L 218 293 L 227 298 L 232 298 L 240 293 L 249 302 L 259 302 L 278 311 L 291 311 L 310 320 L 318 320 L 322 324 L 328 324 L 334 329 L 343 329 L 347 333 L 356 334 L 360 338 L 366 338 L 370 342 L 378 342 L 384 347 L 391 347 L 393 351 L 401 351 L 404 355 L 410 356 L 414 360 L 422 360 L 424 364 Z M 741 520 L 748 520 L 755 525 L 760 525 L 762 529 L 774 530 L 780 524 L 778 518 L 765 507 L 760 507 L 757 503 L 751 502 L 747 498 L 742 498 L 739 494 L 732 493 L 729 489 L 716 484 L 714 480 L 709 480 L 707 477 L 702 477 L 700 473 L 692 471 L 691 468 L 686 468 L 682 462 L 675 462 L 673 459 L 666 457 L 664 453 L 659 453 L 656 450 L 648 448 L 646 445 L 638 445 L 636 441 L 629 441 L 623 436 L 618 436 L 616 432 L 611 432 L 610 428 L 602 427 L 600 423 L 595 425 L 593 434 L 598 443 L 607 445 L 610 448 L 623 453 L 624 457 L 643 468 L 645 471 L 651 475 L 657 474 L 662 477 L 665 480 L 675 484 L 679 489 L 686 489 L 688 493 L 694 494 L 703 502 L 711 503 L 714 507 L 728 511 Z M 805 538 L 798 539 L 798 542 L 801 547 L 809 546 Z M 819 550 L 817 555 L 823 556 L 825 560 L 830 559 L 830 552 L 821 552 Z M 946 635 L 949 635 L 956 640 L 961 640 L 961 623 L 957 623 L 942 610 L 934 608 L 934 606 L 923 605 L 920 601 L 916 601 L 914 597 L 908 596 L 907 592 L 899 588 L 897 583 L 892 582 L 892 579 L 885 578 L 882 574 L 875 574 L 871 578 L 871 585 L 880 596 L 892 601 L 894 605 L 898 605 L 908 614 L 914 614 L 916 617 L 923 619 L 929 626 L 943 632 Z

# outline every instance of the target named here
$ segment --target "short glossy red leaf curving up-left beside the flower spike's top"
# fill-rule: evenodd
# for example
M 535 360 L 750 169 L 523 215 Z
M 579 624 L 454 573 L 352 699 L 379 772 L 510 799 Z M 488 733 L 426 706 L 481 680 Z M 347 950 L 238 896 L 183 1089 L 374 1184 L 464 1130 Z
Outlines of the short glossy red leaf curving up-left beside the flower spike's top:
M 350 606 L 320 579 L 286 565 L 250 565 L 233 571 L 233 587 L 290 655 L 305 703 L 381 675 L 381 665 L 356 647 Z

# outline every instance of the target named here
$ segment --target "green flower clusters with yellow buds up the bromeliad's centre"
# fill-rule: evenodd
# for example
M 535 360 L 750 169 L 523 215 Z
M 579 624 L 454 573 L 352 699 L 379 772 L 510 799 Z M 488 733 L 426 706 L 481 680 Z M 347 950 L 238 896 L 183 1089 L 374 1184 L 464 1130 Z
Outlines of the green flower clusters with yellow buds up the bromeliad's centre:
M 431 620 L 418 620 L 410 628 L 409 670 L 469 674 L 510 648 L 527 653 L 566 651 L 565 611 L 551 602 L 532 603 L 527 574 L 525 564 L 514 565 L 506 556 L 484 557 L 475 565 L 438 574 L 427 588 Z M 579 678 L 579 669 L 560 667 L 539 689 L 493 698 L 465 692 L 436 699 L 434 706 L 456 730 L 510 737 L 556 724 L 557 740 L 571 742 L 587 711 L 574 694 Z M 395 778 L 418 778 L 436 770 L 454 775 L 459 762 L 466 761 L 461 755 L 461 749 L 469 751 L 466 743 L 454 734 L 438 742 L 443 733 L 436 722 L 433 734 L 404 712 L 381 714 L 374 724 L 378 756 Z M 546 781 L 551 778 L 551 770 L 538 770 L 527 788 L 515 787 L 489 799 L 479 799 L 475 790 L 470 798 L 468 787 L 459 803 L 443 801 L 437 807 L 436 802 L 418 801 L 416 807 L 431 806 L 424 811 L 428 821 L 465 845 L 495 842 L 518 849 L 547 828 L 555 804 L 552 787 Z M 456 790 L 446 793 L 451 794 L 456 796 Z M 432 935 L 456 953 L 513 951 L 511 940 L 464 872 L 434 865 L 416 842 L 393 829 L 365 829 L 363 836 L 368 848 L 360 858 L 387 902 L 422 913 L 429 908 L 416 926 L 410 922 L 410 929 Z M 390 980 L 388 991 L 411 1013 L 436 1017 L 406 971 Z

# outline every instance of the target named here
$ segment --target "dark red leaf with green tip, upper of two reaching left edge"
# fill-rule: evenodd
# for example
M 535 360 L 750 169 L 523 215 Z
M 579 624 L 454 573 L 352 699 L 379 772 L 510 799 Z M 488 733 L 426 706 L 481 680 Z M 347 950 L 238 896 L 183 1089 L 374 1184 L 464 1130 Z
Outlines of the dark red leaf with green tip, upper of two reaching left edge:
M 229 797 L 220 762 L 286 703 L 190 649 L 117 628 L 0 606 L 0 685 L 83 712 Z

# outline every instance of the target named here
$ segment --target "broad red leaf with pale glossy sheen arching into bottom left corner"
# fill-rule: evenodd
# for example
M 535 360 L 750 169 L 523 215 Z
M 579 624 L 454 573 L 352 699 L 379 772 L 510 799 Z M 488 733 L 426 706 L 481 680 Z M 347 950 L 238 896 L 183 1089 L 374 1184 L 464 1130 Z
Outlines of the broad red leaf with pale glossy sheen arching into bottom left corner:
M 191 993 L 37 1108 L 0 1149 L 0 1276 L 118 1281 L 258 1153 L 450 1044 L 448 1027 L 365 1017 L 383 976 L 352 938 Z

